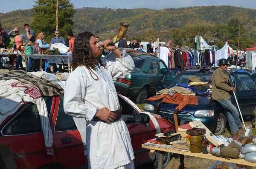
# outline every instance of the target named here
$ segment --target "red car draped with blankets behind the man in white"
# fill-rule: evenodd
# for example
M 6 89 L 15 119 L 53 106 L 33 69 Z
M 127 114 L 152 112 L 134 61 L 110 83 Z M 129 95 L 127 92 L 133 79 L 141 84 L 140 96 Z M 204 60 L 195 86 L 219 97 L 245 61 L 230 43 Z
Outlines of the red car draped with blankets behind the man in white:
M 40 115 L 35 104 L 26 103 L 0 124 L 0 146 L 9 146 L 18 169 L 76 169 L 86 168 L 86 156 L 79 131 L 73 118 L 64 113 L 63 96 L 44 98 L 49 113 L 49 122 L 53 134 L 54 156 L 47 156 L 44 137 L 41 130 Z M 136 121 L 137 110 L 119 96 L 122 105 L 122 118 L 127 124 L 135 153 L 135 166 L 152 162 L 156 154 L 141 148 L 141 144 L 154 138 L 156 130 L 152 121 L 148 124 Z M 148 116 L 148 115 L 147 115 Z M 174 126 L 163 118 L 157 118 L 162 132 L 172 130 Z M 155 160 L 155 165 L 159 158 Z M 170 160 L 166 154 L 163 163 Z

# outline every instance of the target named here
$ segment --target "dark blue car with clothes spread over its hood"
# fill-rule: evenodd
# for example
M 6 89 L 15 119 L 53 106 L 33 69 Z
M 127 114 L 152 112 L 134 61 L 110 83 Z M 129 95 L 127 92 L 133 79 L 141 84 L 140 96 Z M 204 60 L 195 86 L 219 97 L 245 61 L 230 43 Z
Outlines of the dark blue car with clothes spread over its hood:
M 188 78 L 196 76 L 202 82 L 207 82 L 211 78 L 214 70 L 192 69 L 180 73 L 169 85 L 168 88 L 177 86 L 177 84 L 187 84 Z M 239 107 L 243 115 L 253 115 L 253 110 L 256 105 L 256 85 L 250 74 L 246 70 L 229 71 L 230 77 L 233 79 L 236 87 L 236 96 L 239 101 Z M 234 95 L 230 95 L 232 103 L 236 106 Z M 144 110 L 151 113 L 160 114 L 163 118 L 173 121 L 173 112 L 177 104 L 166 104 L 161 101 L 148 101 L 145 104 Z M 215 135 L 220 135 L 226 128 L 225 110 L 213 101 L 208 95 L 198 96 L 198 105 L 187 105 L 179 113 L 180 124 L 186 124 L 190 121 L 200 120 L 206 127 L 209 128 Z

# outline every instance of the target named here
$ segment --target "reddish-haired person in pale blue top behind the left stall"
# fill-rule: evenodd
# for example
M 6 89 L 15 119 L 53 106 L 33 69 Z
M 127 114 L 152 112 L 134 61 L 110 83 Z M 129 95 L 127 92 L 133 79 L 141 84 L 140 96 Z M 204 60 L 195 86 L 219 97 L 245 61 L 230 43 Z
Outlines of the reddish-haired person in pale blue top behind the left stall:
M 47 50 L 48 48 L 51 47 L 51 44 L 47 44 L 47 42 L 45 42 L 44 40 L 45 38 L 45 35 L 44 35 L 44 32 L 40 32 L 38 34 L 38 36 L 36 37 L 35 39 L 35 48 L 38 47 L 39 48 L 39 54 L 42 54 L 43 51 Z M 38 62 L 39 61 L 39 62 Z M 33 65 L 33 67 L 35 69 L 39 69 L 39 66 L 40 66 L 40 59 L 35 59 L 34 60 L 35 64 Z M 45 60 L 45 66 L 44 66 L 44 71 L 47 71 L 47 68 L 49 66 L 49 62 L 47 62 Z

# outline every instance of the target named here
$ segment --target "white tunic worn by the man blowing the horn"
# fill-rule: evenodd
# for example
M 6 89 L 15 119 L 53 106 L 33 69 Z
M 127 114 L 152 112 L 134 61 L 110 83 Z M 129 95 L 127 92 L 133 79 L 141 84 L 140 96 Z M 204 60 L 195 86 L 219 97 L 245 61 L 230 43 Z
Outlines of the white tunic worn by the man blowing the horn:
M 116 62 L 105 64 L 106 68 L 97 65 L 91 70 L 98 80 L 93 73 L 92 78 L 86 67 L 76 68 L 67 79 L 64 93 L 65 113 L 75 117 L 82 139 L 86 131 L 88 166 L 92 169 L 115 169 L 134 159 L 131 138 L 122 118 L 110 124 L 92 120 L 97 109 L 120 109 L 112 78 L 127 76 L 134 69 L 133 59 L 125 51 Z

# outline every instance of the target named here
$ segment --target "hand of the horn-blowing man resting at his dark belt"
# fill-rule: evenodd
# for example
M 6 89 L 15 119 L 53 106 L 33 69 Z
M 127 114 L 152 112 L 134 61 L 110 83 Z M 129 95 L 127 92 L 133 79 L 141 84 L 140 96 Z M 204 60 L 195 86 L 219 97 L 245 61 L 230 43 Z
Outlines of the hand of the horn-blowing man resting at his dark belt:
M 108 123 L 111 123 L 116 120 L 116 114 L 109 111 L 107 107 L 99 109 L 95 116 L 101 119 L 102 121 L 106 121 Z

